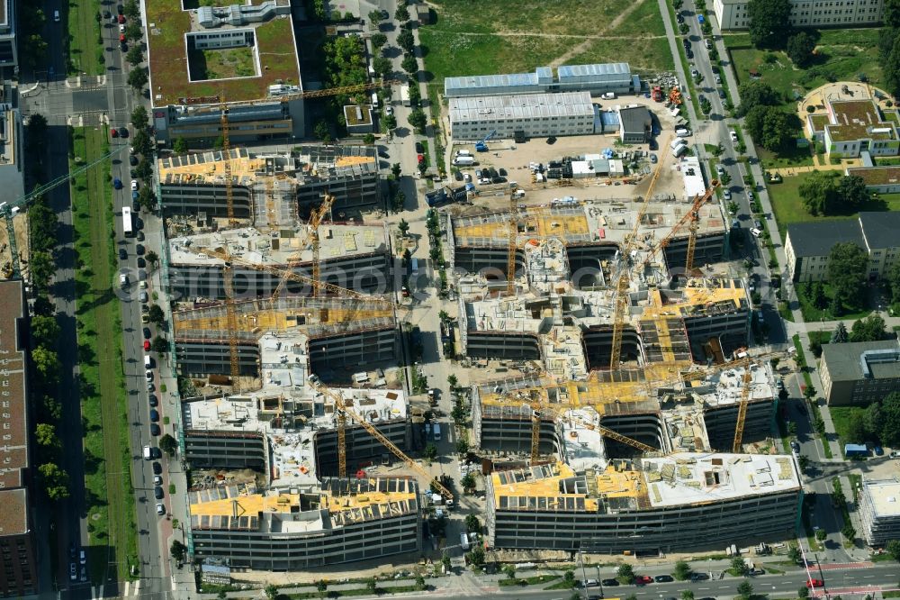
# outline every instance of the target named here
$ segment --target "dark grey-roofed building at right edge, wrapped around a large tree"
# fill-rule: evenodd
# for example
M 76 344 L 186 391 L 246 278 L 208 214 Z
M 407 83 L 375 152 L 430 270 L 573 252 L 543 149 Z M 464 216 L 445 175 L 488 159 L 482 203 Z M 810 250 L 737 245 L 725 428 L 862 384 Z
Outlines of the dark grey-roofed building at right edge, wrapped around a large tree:
M 788 273 L 794 281 L 823 281 L 834 244 L 853 243 L 869 254 L 869 279 L 885 276 L 900 258 L 900 212 L 862 212 L 856 219 L 791 223 L 785 240 Z

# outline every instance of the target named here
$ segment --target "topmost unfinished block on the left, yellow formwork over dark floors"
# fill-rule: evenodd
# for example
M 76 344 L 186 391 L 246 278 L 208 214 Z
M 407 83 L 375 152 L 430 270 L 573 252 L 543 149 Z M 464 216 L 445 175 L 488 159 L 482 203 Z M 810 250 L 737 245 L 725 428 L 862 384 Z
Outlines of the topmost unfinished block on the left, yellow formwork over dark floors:
M 371 146 L 298 146 L 290 153 L 229 150 L 234 214 L 258 227 L 298 222 L 326 193 L 335 214 L 379 201 L 378 157 Z M 166 216 L 227 216 L 223 150 L 170 155 L 157 161 Z M 340 219 L 338 219 L 340 220 Z

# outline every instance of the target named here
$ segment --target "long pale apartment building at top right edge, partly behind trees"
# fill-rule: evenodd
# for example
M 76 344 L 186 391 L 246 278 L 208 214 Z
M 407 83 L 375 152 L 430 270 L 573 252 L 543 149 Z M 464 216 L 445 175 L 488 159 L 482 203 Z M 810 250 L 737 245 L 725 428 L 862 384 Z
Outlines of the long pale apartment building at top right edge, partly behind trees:
M 713 0 L 722 29 L 750 27 L 748 0 Z M 884 0 L 790 0 L 793 27 L 864 27 L 881 23 Z

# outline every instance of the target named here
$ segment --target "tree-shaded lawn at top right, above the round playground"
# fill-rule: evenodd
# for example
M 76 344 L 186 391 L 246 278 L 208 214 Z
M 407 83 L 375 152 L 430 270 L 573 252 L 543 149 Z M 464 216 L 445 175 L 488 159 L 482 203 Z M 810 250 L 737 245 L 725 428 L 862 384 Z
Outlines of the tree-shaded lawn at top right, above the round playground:
M 752 48 L 748 33 L 726 34 L 727 45 L 738 83 L 750 79 L 750 70 L 756 69 L 761 80 L 779 90 L 788 99 L 794 93 L 806 95 L 809 90 L 823 86 L 828 81 L 857 81 L 865 74 L 874 86 L 882 83 L 878 66 L 878 29 L 824 30 L 817 46 L 819 53 L 815 64 L 795 69 L 784 52 L 763 51 Z

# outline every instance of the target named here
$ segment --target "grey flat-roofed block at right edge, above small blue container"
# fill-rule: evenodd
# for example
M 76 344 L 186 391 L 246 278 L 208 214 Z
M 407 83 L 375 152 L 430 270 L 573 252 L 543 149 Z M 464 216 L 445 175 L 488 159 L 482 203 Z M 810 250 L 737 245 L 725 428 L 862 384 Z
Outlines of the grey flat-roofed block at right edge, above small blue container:
M 896 339 L 823 344 L 819 371 L 829 405 L 867 406 L 900 392 L 900 345 Z

